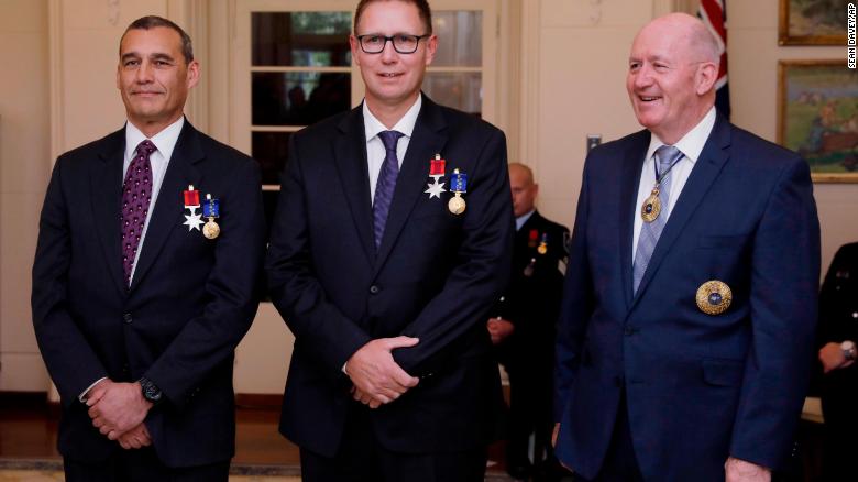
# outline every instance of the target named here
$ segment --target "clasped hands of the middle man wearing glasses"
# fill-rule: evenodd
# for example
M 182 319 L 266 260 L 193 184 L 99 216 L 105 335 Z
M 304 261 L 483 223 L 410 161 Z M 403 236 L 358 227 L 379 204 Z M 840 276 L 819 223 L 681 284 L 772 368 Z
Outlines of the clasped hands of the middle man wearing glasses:
M 361 347 L 345 363 L 352 381 L 352 397 L 370 408 L 378 408 L 399 398 L 420 379 L 405 372 L 393 359 L 393 350 L 414 347 L 420 340 L 410 337 L 380 338 Z

